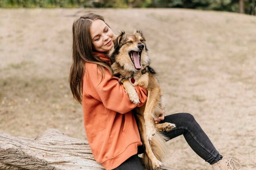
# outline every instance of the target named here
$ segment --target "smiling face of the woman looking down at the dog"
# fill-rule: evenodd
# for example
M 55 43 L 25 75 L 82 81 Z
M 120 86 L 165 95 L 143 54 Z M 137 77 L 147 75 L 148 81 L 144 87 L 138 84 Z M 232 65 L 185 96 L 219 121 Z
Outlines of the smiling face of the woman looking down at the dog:
M 108 52 L 112 49 L 114 43 L 112 41 L 113 32 L 103 20 L 97 19 L 92 21 L 90 27 L 92 45 L 99 52 Z

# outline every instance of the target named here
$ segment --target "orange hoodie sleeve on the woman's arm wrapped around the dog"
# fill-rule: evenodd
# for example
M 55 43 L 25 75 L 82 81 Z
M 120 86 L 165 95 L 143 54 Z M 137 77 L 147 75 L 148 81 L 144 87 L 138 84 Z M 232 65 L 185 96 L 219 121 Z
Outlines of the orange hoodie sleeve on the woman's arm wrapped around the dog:
M 96 64 L 85 65 L 85 75 L 83 78 L 83 90 L 85 94 L 101 101 L 103 105 L 115 112 L 125 114 L 135 107 L 144 105 L 147 101 L 148 92 L 144 87 L 135 86 L 139 96 L 140 104 L 132 103 L 123 85 L 118 83 L 117 77 L 105 69 L 105 78 L 101 81 L 101 71 Z

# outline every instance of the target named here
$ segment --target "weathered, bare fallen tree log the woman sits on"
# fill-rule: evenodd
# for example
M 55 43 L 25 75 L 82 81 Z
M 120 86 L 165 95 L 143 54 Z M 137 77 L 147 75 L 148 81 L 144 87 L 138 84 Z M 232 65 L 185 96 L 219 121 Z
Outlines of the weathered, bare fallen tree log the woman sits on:
M 49 129 L 36 139 L 0 131 L 0 170 L 104 170 L 88 141 Z M 161 170 L 173 170 L 162 166 Z

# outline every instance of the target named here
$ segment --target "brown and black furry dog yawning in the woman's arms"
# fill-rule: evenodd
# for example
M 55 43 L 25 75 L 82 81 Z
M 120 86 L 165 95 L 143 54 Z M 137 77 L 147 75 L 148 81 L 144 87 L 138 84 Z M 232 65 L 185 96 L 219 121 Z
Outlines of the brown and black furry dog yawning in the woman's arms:
M 160 132 L 170 131 L 175 125 L 154 122 L 154 119 L 164 111 L 161 103 L 162 90 L 157 81 L 156 72 L 149 66 L 148 48 L 142 32 L 135 31 L 133 34 L 121 32 L 114 40 L 114 51 L 110 59 L 111 69 L 115 76 L 119 76 L 119 83 L 123 83 L 130 101 L 139 103 L 134 86 L 143 86 L 148 91 L 146 104 L 136 107 L 134 112 L 145 148 L 144 164 L 148 170 L 159 169 L 162 166 L 161 161 L 166 148 L 166 137 Z

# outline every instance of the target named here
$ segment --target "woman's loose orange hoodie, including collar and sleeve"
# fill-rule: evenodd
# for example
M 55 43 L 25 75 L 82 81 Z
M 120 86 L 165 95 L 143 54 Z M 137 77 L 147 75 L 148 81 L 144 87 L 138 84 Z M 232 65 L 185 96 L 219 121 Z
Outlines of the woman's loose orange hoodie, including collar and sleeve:
M 108 56 L 94 53 L 110 64 Z M 147 91 L 135 87 L 140 104 L 132 103 L 117 77 L 105 69 L 105 78 L 96 64 L 85 63 L 83 77 L 83 117 L 85 132 L 98 163 L 106 170 L 117 168 L 126 159 L 137 154 L 142 145 L 139 130 L 131 110 L 146 103 Z

